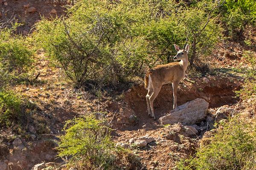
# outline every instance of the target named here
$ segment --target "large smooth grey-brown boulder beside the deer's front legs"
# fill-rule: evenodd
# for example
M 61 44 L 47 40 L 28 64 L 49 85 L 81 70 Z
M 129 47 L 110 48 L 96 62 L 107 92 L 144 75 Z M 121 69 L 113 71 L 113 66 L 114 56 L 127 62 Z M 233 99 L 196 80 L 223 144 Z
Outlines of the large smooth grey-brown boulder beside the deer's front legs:
M 195 99 L 180 105 L 166 116 L 160 117 L 159 122 L 163 125 L 175 123 L 193 125 L 206 118 L 208 106 L 209 103 L 204 99 Z

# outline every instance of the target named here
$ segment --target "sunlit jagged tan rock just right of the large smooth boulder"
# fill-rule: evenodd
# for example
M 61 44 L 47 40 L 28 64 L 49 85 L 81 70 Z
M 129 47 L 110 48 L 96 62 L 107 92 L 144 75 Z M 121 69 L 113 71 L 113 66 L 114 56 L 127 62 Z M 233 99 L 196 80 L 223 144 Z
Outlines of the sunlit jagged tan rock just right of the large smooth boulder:
M 237 113 L 239 113 L 239 111 L 229 108 L 227 105 L 221 106 L 215 113 L 215 121 L 219 122 L 221 119 L 227 119 L 228 116 L 233 116 Z

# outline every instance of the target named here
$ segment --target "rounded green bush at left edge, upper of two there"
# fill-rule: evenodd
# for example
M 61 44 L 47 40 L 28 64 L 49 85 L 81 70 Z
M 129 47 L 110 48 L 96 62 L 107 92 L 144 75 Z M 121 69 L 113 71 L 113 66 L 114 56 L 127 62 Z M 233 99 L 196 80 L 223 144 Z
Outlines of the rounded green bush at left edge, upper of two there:
M 0 85 L 19 79 L 31 68 L 33 51 L 28 41 L 12 32 L 14 28 L 0 30 Z

